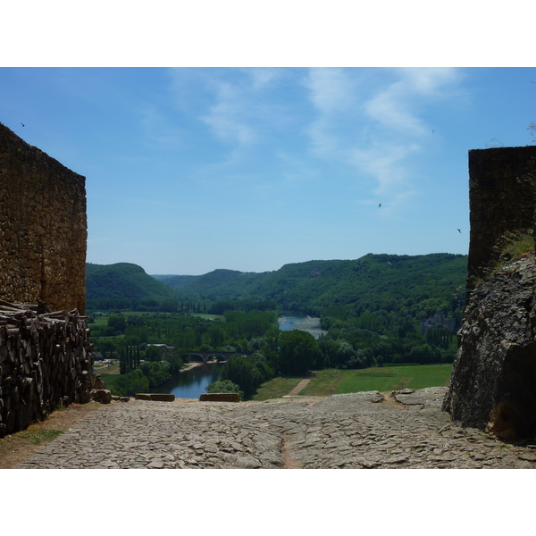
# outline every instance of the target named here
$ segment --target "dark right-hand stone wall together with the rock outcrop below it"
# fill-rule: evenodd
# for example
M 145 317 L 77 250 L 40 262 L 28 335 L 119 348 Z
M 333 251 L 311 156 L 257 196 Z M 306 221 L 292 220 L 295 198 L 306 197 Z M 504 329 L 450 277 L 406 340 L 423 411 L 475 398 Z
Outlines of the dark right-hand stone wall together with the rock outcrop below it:
M 443 409 L 503 440 L 536 439 L 536 264 L 533 252 L 497 272 L 509 232 L 534 229 L 536 147 L 469 152 L 467 298 Z

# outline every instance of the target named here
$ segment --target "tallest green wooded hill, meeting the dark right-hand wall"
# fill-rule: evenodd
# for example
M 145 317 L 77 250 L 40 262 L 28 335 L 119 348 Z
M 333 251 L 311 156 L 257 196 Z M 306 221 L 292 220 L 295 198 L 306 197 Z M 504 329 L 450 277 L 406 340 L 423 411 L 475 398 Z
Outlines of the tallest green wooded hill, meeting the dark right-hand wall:
M 369 254 L 356 261 L 287 264 L 259 291 L 281 306 L 316 313 L 330 306 L 350 306 L 357 314 L 367 309 L 389 313 L 427 299 L 450 308 L 455 294 L 456 300 L 464 297 L 466 265 L 465 255 L 449 254 Z

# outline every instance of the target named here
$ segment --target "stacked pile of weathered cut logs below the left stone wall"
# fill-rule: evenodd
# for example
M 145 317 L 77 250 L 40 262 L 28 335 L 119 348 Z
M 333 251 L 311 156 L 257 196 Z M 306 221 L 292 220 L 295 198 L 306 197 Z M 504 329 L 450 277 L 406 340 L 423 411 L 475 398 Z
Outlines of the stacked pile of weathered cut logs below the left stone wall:
M 0 300 L 0 438 L 56 407 L 89 401 L 87 317 Z

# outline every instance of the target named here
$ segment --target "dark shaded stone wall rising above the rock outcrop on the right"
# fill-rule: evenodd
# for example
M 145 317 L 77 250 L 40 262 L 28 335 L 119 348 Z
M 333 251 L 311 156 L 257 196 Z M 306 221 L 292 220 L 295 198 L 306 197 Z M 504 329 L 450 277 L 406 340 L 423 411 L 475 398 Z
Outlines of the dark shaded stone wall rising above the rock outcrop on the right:
M 509 231 L 532 229 L 535 204 L 529 176 L 534 172 L 536 147 L 469 151 L 467 298 L 474 281 L 482 278 L 493 262 L 498 239 Z

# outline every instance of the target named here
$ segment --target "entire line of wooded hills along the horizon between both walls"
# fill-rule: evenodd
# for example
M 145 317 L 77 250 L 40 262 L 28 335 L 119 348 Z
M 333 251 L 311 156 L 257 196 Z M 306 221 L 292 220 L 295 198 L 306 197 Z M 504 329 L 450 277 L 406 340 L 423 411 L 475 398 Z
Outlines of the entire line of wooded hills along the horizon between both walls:
M 205 309 L 214 302 L 248 299 L 341 319 L 365 311 L 402 309 L 418 318 L 439 311 L 461 312 L 466 264 L 466 255 L 369 254 L 357 260 L 285 264 L 274 272 L 214 270 L 200 276 L 156 276 L 164 282 L 136 264 L 87 264 L 86 289 L 89 308 L 97 306 L 98 298 L 111 300 L 110 307 L 119 309 L 147 300 L 158 302 L 153 308 L 165 302 L 163 310 L 171 311 L 177 306 L 170 300 L 197 303 L 200 310 L 200 304 Z

